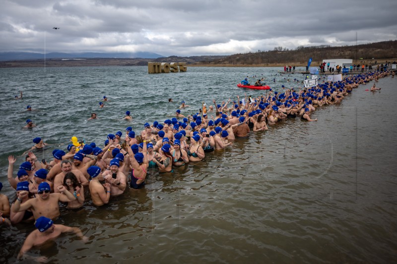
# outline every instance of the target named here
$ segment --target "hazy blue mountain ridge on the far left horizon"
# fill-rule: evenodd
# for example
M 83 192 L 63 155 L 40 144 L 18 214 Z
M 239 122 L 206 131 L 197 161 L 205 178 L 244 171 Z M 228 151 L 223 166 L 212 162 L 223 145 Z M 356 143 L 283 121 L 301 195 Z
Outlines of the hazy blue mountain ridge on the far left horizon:
M 45 59 L 45 58 L 159 58 L 164 57 L 157 53 L 27 53 L 27 52 L 2 52 L 0 61 Z

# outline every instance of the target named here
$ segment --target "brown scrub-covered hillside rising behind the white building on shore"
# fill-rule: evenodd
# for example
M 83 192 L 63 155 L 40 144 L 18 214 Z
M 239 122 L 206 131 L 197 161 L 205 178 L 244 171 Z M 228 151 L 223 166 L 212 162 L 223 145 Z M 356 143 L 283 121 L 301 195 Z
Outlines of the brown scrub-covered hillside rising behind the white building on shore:
M 374 60 L 397 58 L 397 41 L 341 47 L 326 45 L 298 47 L 294 50 L 275 47 L 273 51 L 238 53 L 212 61 L 203 60 L 196 65 L 272 66 L 278 64 L 304 66 L 310 57 L 313 58 L 312 65 L 316 65 L 315 63 L 319 63 L 323 59 L 331 58 L 350 58 L 353 59 L 354 63 L 359 63 L 361 60 L 372 60 L 372 58 Z

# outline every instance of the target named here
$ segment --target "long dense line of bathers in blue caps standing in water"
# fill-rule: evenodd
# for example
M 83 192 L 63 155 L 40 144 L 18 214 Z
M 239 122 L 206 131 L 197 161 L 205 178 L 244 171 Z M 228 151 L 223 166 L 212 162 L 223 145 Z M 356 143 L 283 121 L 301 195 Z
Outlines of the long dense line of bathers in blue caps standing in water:
M 236 137 L 268 130 L 287 118 L 317 121 L 312 117 L 317 108 L 338 104 L 360 84 L 377 82 L 390 74 L 350 75 L 342 81 L 323 81 L 299 90 L 283 86 L 279 92 L 269 90 L 256 98 L 237 96 L 235 101 L 229 99 L 221 104 L 213 100 L 213 106 L 191 114 L 186 114 L 190 108 L 182 102 L 175 117 L 145 123 L 141 131 L 135 132 L 129 126 L 124 133 L 108 134 L 102 148 L 73 137 L 65 150 L 53 150 L 50 162 L 37 158 L 36 154 L 49 146 L 36 137 L 16 173 L 16 158 L 8 157 L 7 178 L 16 197 L 10 205 L 8 197 L 0 194 L 0 225 L 35 221 L 37 230 L 27 236 L 18 258 L 29 257 L 26 252 L 33 246 L 64 232 L 74 232 L 86 241 L 78 228 L 54 224 L 60 216 L 60 202 L 73 210 L 84 210 L 88 201 L 101 207 L 112 197 L 122 195 L 128 186 L 143 188 L 149 168 L 171 173 L 176 167 L 205 159 L 208 152 L 230 148 Z

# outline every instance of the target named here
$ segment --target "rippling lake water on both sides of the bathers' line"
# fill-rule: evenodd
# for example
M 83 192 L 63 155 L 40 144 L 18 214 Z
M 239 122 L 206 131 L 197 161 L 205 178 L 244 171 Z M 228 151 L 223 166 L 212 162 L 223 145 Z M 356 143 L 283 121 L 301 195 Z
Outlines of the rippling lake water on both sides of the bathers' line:
M 53 144 L 36 153 L 50 160 L 52 150 L 65 150 L 72 136 L 103 147 L 109 133 L 124 136 L 127 126 L 140 132 L 146 121 L 172 117 L 182 100 L 190 106 L 182 110 L 187 115 L 212 99 L 260 95 L 236 86 L 246 76 L 251 83 L 265 77 L 278 91 L 281 85 L 303 86 L 293 83 L 304 79 L 301 74 L 278 70 L 0 69 L 1 193 L 14 200 L 7 156 L 19 156 L 19 165 L 37 136 Z M 31 255 L 50 263 L 390 263 L 397 253 L 396 84 L 397 78 L 381 79 L 376 93 L 365 91 L 372 83 L 361 85 L 341 104 L 318 109 L 312 116 L 318 122 L 288 119 L 251 132 L 174 173 L 149 170 L 144 189 L 127 187 L 101 208 L 88 199 L 80 211 L 62 207 L 56 223 L 80 227 L 90 242 L 63 235 Z M 23 99 L 14 100 L 19 90 Z M 99 109 L 105 95 L 110 101 Z M 26 112 L 27 105 L 38 111 Z M 126 110 L 132 122 L 122 120 Z M 87 121 L 91 112 L 99 119 Z M 22 129 L 28 118 L 38 126 Z M 0 227 L 1 263 L 15 262 L 32 230 L 33 224 Z

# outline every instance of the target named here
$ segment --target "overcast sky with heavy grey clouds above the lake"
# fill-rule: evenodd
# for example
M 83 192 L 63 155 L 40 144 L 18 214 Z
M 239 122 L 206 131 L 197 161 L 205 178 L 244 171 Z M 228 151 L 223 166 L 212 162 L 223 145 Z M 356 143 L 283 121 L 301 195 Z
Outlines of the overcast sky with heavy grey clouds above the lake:
M 0 0 L 0 52 L 234 54 L 397 39 L 396 0 Z M 60 27 L 59 30 L 52 29 Z

